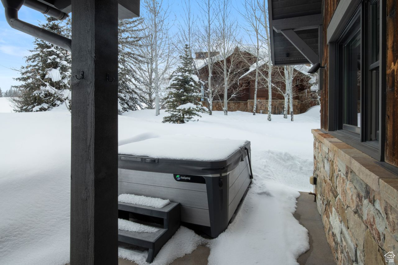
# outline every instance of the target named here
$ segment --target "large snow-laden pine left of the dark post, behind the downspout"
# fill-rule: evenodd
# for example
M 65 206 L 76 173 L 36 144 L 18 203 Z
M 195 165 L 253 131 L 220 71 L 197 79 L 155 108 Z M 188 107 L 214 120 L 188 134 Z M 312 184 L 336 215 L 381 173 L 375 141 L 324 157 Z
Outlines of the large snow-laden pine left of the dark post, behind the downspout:
M 70 37 L 70 19 L 59 21 L 46 16 L 41 27 Z M 70 109 L 70 53 L 60 47 L 35 38 L 31 55 L 25 57 L 27 65 L 21 66 L 21 82 L 13 86 L 19 94 L 12 100 L 15 111 L 46 111 L 63 102 Z

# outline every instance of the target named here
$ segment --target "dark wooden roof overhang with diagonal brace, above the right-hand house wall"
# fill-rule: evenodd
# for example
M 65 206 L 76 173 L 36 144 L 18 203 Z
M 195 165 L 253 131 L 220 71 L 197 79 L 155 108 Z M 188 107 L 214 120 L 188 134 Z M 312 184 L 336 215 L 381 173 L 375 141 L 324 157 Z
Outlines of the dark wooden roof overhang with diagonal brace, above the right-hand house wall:
M 268 0 L 273 65 L 320 62 L 322 0 Z

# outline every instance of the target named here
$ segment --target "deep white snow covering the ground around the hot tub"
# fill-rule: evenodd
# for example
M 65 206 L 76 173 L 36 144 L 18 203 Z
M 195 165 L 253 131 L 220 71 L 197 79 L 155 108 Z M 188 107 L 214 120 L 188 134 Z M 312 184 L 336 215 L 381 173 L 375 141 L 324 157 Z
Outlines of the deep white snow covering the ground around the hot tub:
M 62 108 L 8 113 L 0 98 L 0 264 L 65 264 L 69 259 L 70 113 Z M 6 109 L 6 108 L 5 108 Z M 236 218 L 218 238 L 206 240 L 181 227 L 154 264 L 167 264 L 199 244 L 211 248 L 209 264 L 297 264 L 308 235 L 293 217 L 297 191 L 310 191 L 313 138 L 319 107 L 295 115 L 215 111 L 187 124 L 162 123 L 164 112 L 119 116 L 119 145 L 189 134 L 250 140 L 254 181 Z M 192 153 L 200 145 L 187 146 Z M 145 252 L 119 251 L 145 263 Z

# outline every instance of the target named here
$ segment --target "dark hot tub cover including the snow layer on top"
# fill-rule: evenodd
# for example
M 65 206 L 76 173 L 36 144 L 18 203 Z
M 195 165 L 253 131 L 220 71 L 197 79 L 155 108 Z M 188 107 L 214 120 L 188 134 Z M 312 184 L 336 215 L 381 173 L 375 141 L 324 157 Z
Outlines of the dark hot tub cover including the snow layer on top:
M 226 173 L 250 153 L 246 140 L 167 135 L 119 146 L 119 168 L 192 175 Z

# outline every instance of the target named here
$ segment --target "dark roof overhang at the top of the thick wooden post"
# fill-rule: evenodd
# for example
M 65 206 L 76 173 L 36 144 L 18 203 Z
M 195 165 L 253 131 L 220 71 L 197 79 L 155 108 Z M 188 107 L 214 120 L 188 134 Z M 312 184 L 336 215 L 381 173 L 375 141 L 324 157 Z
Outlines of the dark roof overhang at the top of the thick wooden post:
M 71 0 L 38 0 L 49 6 L 57 8 L 62 12 L 69 14 L 72 12 Z M 135 0 L 118 0 L 119 2 L 119 19 L 138 18 L 140 16 L 140 1 Z

